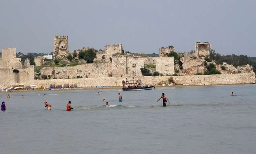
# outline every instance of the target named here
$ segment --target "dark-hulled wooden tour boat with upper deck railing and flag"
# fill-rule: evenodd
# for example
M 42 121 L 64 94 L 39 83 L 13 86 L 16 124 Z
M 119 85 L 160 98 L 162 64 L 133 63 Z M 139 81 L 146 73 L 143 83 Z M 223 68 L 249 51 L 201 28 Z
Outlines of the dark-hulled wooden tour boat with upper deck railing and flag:
M 123 91 L 127 90 L 152 90 L 155 86 L 143 85 L 141 80 L 122 81 Z

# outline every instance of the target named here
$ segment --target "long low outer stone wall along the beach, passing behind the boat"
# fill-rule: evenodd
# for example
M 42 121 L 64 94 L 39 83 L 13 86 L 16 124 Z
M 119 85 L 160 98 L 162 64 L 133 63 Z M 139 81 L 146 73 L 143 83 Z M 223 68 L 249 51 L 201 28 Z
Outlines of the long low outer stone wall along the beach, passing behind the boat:
M 123 76 L 125 79 L 126 76 Z M 187 76 L 137 76 L 134 79 L 141 79 L 144 84 L 157 84 L 166 81 L 170 77 L 176 84 L 189 85 L 222 85 L 222 84 L 255 84 L 255 73 L 244 74 L 220 74 L 220 75 L 187 75 Z M 82 79 L 57 79 L 57 80 L 34 80 L 33 83 L 39 87 L 47 87 L 50 85 L 73 85 L 77 87 L 95 87 L 95 86 L 122 86 L 119 77 L 106 78 L 82 78 Z

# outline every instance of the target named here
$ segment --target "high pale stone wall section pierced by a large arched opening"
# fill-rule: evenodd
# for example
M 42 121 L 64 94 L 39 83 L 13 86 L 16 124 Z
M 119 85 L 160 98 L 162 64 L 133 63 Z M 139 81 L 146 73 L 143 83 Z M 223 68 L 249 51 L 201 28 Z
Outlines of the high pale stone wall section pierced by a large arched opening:
M 153 60 L 156 63 L 156 71 L 159 73 L 173 74 L 174 61 L 173 57 L 134 57 L 134 56 L 117 56 L 112 58 L 113 76 L 131 74 L 141 76 L 140 68 L 144 68 L 146 61 Z

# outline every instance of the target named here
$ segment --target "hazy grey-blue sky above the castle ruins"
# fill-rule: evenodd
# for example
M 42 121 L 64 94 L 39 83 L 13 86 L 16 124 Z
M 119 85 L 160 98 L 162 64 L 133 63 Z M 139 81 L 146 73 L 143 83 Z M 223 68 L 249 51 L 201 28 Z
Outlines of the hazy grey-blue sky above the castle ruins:
M 68 35 L 69 51 L 104 49 L 122 43 L 125 51 L 159 53 L 195 49 L 209 41 L 222 55 L 256 56 L 256 1 L 1 0 L 0 48 L 53 51 L 54 36 Z

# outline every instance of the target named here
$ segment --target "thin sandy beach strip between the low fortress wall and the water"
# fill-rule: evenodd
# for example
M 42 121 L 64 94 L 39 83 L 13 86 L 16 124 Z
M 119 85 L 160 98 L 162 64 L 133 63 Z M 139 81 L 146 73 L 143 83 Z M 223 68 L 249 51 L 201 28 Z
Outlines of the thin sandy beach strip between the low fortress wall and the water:
M 230 86 L 230 85 L 255 85 L 255 84 L 223 84 L 223 85 L 174 85 L 174 86 L 159 86 L 159 85 L 155 85 L 155 88 L 177 88 L 177 87 L 203 87 L 203 86 Z M 87 91 L 87 90 L 122 90 L 122 86 L 118 86 L 118 87 L 111 87 L 111 88 L 84 88 L 84 89 L 63 89 L 63 90 L 43 90 L 43 89 L 37 89 L 37 90 L 19 90 L 19 92 L 56 92 L 56 91 Z M 10 91 L 12 92 L 12 91 Z M 0 91 L 0 93 L 10 93 L 10 92 L 6 92 L 6 91 Z M 14 91 L 17 92 L 17 91 Z

